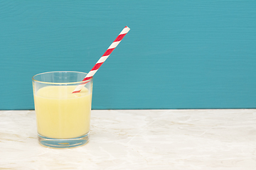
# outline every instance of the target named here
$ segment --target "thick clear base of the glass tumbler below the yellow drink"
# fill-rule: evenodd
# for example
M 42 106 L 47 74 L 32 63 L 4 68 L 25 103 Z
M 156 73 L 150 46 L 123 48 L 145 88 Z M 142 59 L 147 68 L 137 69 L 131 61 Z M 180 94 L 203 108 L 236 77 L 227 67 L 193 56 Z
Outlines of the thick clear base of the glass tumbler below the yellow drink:
M 38 141 L 41 145 L 46 147 L 55 147 L 55 148 L 69 148 L 69 147 L 78 147 L 85 145 L 89 141 L 89 133 L 82 135 L 80 137 L 75 137 L 71 139 L 54 139 L 49 137 L 44 137 L 38 134 Z

